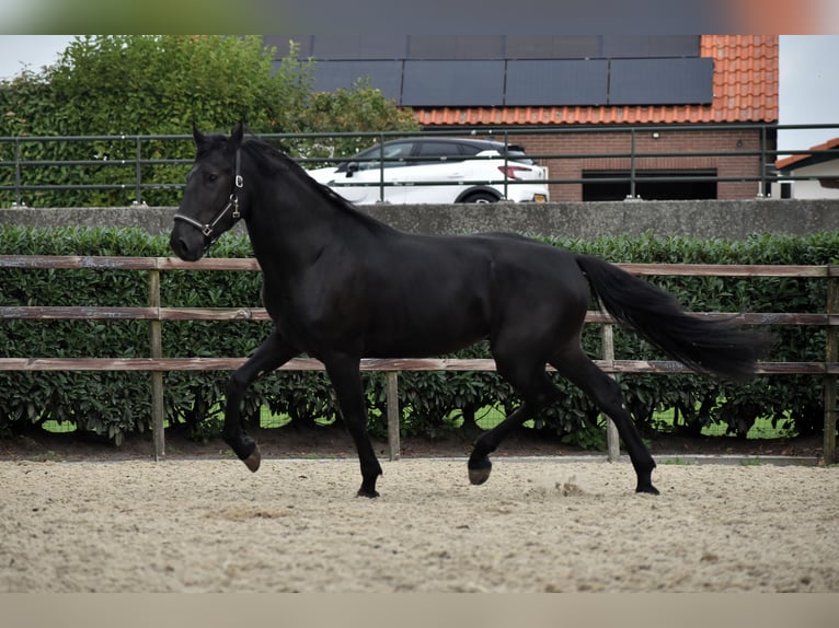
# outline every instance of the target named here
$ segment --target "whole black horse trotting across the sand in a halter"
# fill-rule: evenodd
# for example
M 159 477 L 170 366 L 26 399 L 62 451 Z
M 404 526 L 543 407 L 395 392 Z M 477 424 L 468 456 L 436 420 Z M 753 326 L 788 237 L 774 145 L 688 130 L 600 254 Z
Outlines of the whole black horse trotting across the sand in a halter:
M 686 314 L 676 300 L 606 261 L 510 234 L 403 233 L 320 185 L 281 152 L 243 138 L 193 130 L 197 147 L 171 246 L 200 258 L 240 218 L 263 272 L 274 330 L 227 386 L 225 441 L 255 472 L 260 450 L 240 405 L 263 373 L 301 353 L 322 361 L 361 466 L 358 495 L 377 497 L 381 475 L 367 435 L 361 358 L 448 353 L 487 338 L 497 371 L 522 403 L 483 433 L 469 479 L 490 476 L 490 454 L 510 430 L 559 398 L 545 365 L 585 391 L 618 427 L 639 492 L 657 493 L 655 462 L 618 384 L 581 348 L 589 294 L 611 315 L 697 372 L 744 379 L 762 339 Z

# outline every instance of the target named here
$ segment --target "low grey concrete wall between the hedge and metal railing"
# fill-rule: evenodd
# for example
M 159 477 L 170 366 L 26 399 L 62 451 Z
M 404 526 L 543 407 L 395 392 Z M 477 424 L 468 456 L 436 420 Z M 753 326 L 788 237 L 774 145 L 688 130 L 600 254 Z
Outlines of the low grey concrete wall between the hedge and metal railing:
M 417 233 L 510 231 L 593 240 L 601 235 L 682 235 L 743 240 L 754 233 L 806 235 L 839 230 L 839 200 L 697 200 L 548 205 L 380 205 L 363 208 Z M 0 224 L 134 226 L 168 233 L 175 208 L 0 208 Z

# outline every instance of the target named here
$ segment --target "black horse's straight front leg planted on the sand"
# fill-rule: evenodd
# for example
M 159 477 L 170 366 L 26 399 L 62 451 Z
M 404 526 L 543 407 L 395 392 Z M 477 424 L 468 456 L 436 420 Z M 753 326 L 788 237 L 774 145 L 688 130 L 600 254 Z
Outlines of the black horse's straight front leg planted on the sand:
M 361 488 L 358 489 L 358 496 L 379 497 L 376 491 L 376 480 L 381 475 L 381 465 L 373 452 L 370 437 L 367 434 L 367 405 L 359 371 L 360 360 L 337 354 L 325 357 L 323 363 L 335 388 L 344 422 L 355 442 L 358 461 L 361 463 Z

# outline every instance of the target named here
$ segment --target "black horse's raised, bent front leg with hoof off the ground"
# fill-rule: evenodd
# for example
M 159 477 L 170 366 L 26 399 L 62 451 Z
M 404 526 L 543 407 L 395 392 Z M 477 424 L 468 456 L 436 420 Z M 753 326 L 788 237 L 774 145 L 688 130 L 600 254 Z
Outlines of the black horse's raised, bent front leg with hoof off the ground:
M 296 354 L 297 351 L 274 332 L 256 352 L 233 372 L 227 384 L 222 438 L 252 472 L 260 468 L 262 456 L 256 441 L 249 437 L 242 427 L 242 399 L 254 380 L 281 367 Z

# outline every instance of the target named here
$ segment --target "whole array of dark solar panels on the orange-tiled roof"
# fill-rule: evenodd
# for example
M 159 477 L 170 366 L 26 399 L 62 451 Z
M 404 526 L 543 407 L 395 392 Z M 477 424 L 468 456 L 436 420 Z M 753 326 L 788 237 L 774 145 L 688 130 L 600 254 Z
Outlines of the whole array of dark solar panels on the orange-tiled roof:
M 315 90 L 346 89 L 369 77 L 373 88 L 404 106 L 678 105 L 713 100 L 713 60 L 697 56 L 696 35 L 302 39 L 303 48 L 320 58 L 312 70 Z M 505 46 L 503 57 L 496 57 Z

